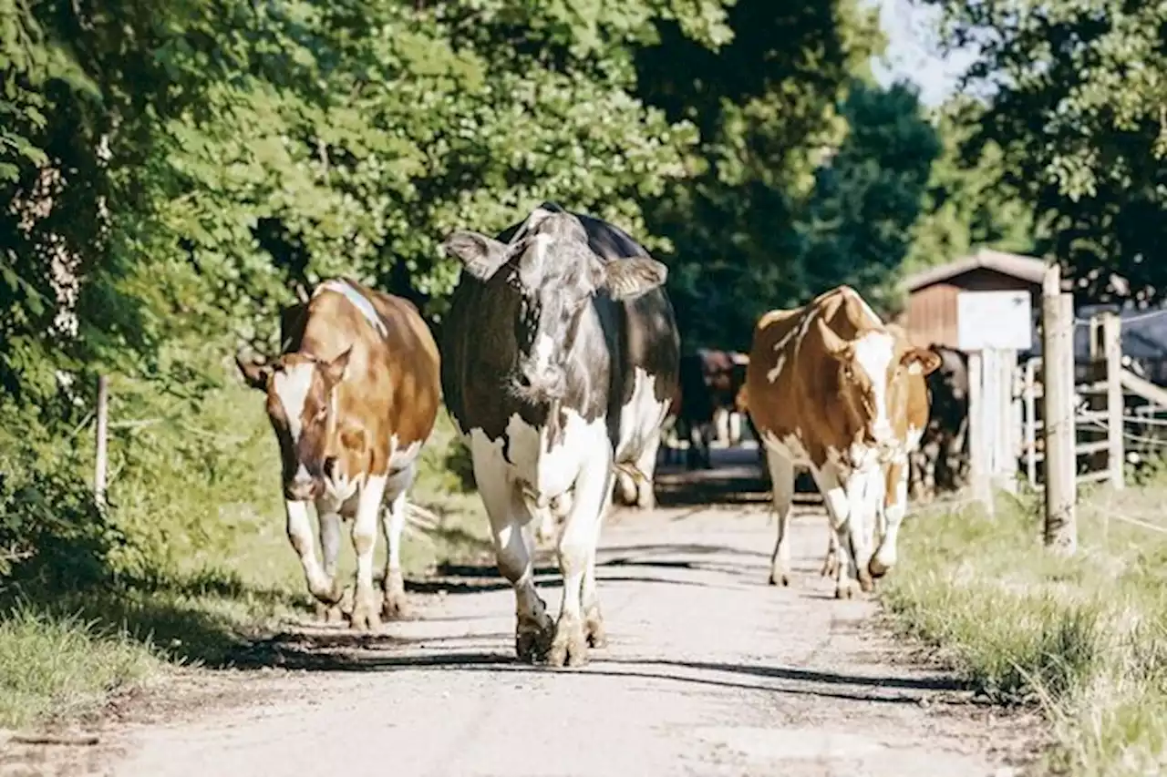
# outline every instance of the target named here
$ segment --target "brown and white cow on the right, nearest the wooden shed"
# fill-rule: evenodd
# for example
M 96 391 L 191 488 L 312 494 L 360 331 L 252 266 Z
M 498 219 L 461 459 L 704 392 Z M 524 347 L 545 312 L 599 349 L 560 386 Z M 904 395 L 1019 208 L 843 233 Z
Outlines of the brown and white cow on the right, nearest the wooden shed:
M 902 448 L 896 427 L 902 425 L 904 392 L 896 383 L 932 359 L 935 355 L 888 331 L 847 286 L 759 320 L 746 384 L 778 514 L 771 584 L 790 584 L 795 468 L 806 466 L 846 548 L 836 596 L 850 598 L 854 582 L 872 590 L 875 495 L 883 492 L 883 464 Z

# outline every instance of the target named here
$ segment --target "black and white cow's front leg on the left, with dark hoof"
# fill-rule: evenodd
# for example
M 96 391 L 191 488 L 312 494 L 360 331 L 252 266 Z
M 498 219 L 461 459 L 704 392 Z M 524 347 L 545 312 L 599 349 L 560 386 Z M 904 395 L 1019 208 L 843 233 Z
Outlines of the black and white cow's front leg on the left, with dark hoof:
M 484 453 L 474 456 L 474 478 L 490 519 L 498 572 L 515 589 L 515 653 L 533 664 L 546 657 L 554 634 L 547 606 L 534 588 L 534 565 L 526 542 L 525 526 L 533 516 L 522 491 L 506 477 L 502 454 L 494 447 L 483 448 Z

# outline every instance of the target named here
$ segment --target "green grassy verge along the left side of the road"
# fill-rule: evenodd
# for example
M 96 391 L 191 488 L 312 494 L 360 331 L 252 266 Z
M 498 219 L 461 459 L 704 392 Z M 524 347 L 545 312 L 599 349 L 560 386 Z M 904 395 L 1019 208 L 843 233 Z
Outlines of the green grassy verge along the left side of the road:
M 261 398 L 229 379 L 191 430 L 182 405 L 168 406 L 149 387 L 125 384 L 116 391 L 123 402 L 111 412 L 114 420 L 126 420 L 131 410 L 177 420 L 126 425 L 111 440 L 110 522 L 126 541 L 78 566 L 104 565 L 100 583 L 81 584 L 76 575 L 62 583 L 43 570 L 5 576 L 0 569 L 0 728 L 90 714 L 112 698 L 165 681 L 175 666 L 229 665 L 281 621 L 312 616 L 314 602 L 285 533 L 275 442 Z M 407 579 L 489 547 L 481 502 L 455 474 L 464 461 L 445 411 L 422 456 L 411 498 L 441 522 L 434 532 L 406 530 Z M 43 461 L 30 457 L 26 471 Z M 19 498 L 9 510 L 21 509 Z M 69 518 L 53 494 L 41 503 Z M 26 514 L 35 522 L 40 513 Z M 74 548 L 56 548 L 51 566 L 75 566 L 82 551 Z M 378 538 L 377 569 L 384 555 Z M 345 580 L 355 566 L 345 536 Z

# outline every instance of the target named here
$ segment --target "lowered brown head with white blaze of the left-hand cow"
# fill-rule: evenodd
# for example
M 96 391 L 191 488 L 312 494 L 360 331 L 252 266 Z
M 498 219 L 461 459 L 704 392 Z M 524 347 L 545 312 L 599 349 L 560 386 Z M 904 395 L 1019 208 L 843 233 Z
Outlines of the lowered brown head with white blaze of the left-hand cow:
M 351 348 L 329 362 L 307 354 L 285 354 L 267 364 L 236 356 L 247 385 L 267 394 L 267 418 L 280 444 L 284 495 L 312 499 L 324 489 L 335 467 L 330 441 L 337 424 L 336 386 L 344 379 Z

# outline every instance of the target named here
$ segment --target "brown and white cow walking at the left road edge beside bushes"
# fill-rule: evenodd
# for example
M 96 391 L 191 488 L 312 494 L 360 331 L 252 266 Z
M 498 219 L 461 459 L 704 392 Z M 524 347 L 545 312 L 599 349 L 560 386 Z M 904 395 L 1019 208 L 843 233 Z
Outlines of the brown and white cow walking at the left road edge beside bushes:
M 375 629 L 382 615 L 406 617 L 401 530 L 418 454 L 441 399 L 438 345 L 411 302 L 349 279 L 326 281 L 307 303 L 286 308 L 280 342 L 281 354 L 270 364 L 243 356 L 237 362 L 247 384 L 267 394 L 282 460 L 288 539 L 308 589 L 326 618 L 341 615 L 345 596 L 336 554 L 341 518 L 352 519 L 352 628 Z M 320 520 L 323 567 L 309 502 Z M 377 602 L 372 562 L 385 502 L 389 553 Z

